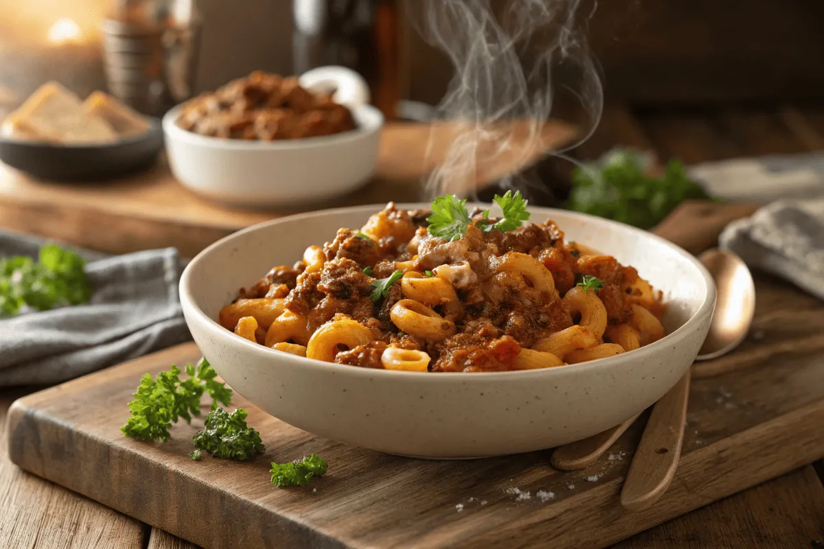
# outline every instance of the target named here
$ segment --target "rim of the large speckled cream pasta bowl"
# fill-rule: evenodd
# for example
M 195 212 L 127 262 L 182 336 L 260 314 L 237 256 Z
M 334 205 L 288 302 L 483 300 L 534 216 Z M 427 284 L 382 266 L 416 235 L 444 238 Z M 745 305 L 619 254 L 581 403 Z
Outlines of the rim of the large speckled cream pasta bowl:
M 478 204 L 479 206 L 486 206 L 488 207 L 489 204 Z M 399 203 L 397 207 L 403 209 L 417 209 L 417 208 L 425 208 L 429 207 L 430 204 L 428 202 L 417 202 L 417 203 Z M 467 206 L 473 207 L 475 204 L 467 204 Z M 205 261 L 210 254 L 214 253 L 214 250 L 221 248 L 227 243 L 232 242 L 240 238 L 242 235 L 246 235 L 247 233 L 254 232 L 257 230 L 264 230 L 265 228 L 273 225 L 277 225 L 279 223 L 283 223 L 284 221 L 300 221 L 301 219 L 307 219 L 312 217 L 317 217 L 318 219 L 323 219 L 324 215 L 329 214 L 336 214 L 339 212 L 350 212 L 350 213 L 360 213 L 363 212 L 364 214 L 368 214 L 370 212 L 379 212 L 385 207 L 383 204 L 368 204 L 366 206 L 357 206 L 357 207 L 339 207 L 339 208 L 330 208 L 326 210 L 316 210 L 314 212 L 305 212 L 299 213 L 292 216 L 283 216 L 271 221 L 264 221 L 254 226 L 247 227 L 246 229 L 239 230 L 232 235 L 228 235 L 221 240 L 211 244 L 208 248 L 201 251 L 197 256 L 194 257 L 190 261 L 190 263 L 186 266 L 183 271 L 183 274 L 180 276 L 180 304 L 183 307 L 186 314 L 186 322 L 197 322 L 201 323 L 202 326 L 207 330 L 209 336 L 217 337 L 218 340 L 222 340 L 225 345 L 235 347 L 238 351 L 243 353 L 251 352 L 255 355 L 259 356 L 261 359 L 269 359 L 272 361 L 285 361 L 292 365 L 306 367 L 306 368 L 314 368 L 321 371 L 327 371 L 331 373 L 334 371 L 336 373 L 341 372 L 342 370 L 346 372 L 347 375 L 354 375 L 354 376 L 363 376 L 365 378 L 375 377 L 375 376 L 414 376 L 416 381 L 423 381 L 424 379 L 431 379 L 431 381 L 426 381 L 425 383 L 438 383 L 438 379 L 455 379 L 456 376 L 460 376 L 460 379 L 463 379 L 467 383 L 476 383 L 476 382 L 485 382 L 485 380 L 489 379 L 550 379 L 553 376 L 563 376 L 569 375 L 570 370 L 575 371 L 585 371 L 585 370 L 610 370 L 611 368 L 625 364 L 630 356 L 636 357 L 639 360 L 644 359 L 645 357 L 653 356 L 658 353 L 659 350 L 663 349 L 666 346 L 672 345 L 673 343 L 681 342 L 685 337 L 688 337 L 690 333 L 697 331 L 700 328 L 700 323 L 706 319 L 707 317 L 713 314 L 713 309 L 715 306 L 715 283 L 713 281 L 713 277 L 709 274 L 709 271 L 704 267 L 700 261 L 695 258 L 692 254 L 686 252 L 686 250 L 681 249 L 676 244 L 672 244 L 672 242 L 661 238 L 658 235 L 653 235 L 646 230 L 638 229 L 633 226 L 628 226 L 623 223 L 619 223 L 618 221 L 611 221 L 607 219 L 603 219 L 601 217 L 590 216 L 588 214 L 579 213 L 579 212 L 570 212 L 568 210 L 559 210 L 556 208 L 548 208 L 548 207 L 531 207 L 529 208 L 531 212 L 547 214 L 552 218 L 553 212 L 558 212 L 563 214 L 564 216 L 573 216 L 579 217 L 587 222 L 594 222 L 597 225 L 605 226 L 605 228 L 618 230 L 621 232 L 628 232 L 634 233 L 635 235 L 639 235 L 642 239 L 653 240 L 658 242 L 658 244 L 663 244 L 668 248 L 675 251 L 681 258 L 686 259 L 687 262 L 691 263 L 700 273 L 701 277 L 703 277 L 704 285 L 705 285 L 705 295 L 704 301 L 701 303 L 699 309 L 695 311 L 690 319 L 679 328 L 677 328 L 674 332 L 668 333 L 666 336 L 659 339 L 657 342 L 650 343 L 647 346 L 641 347 L 630 353 L 624 353 L 621 355 L 610 356 L 607 358 L 597 359 L 594 361 L 587 361 L 583 363 L 579 363 L 576 365 L 569 365 L 564 367 L 557 367 L 557 368 L 544 368 L 541 370 L 513 370 L 513 371 L 506 371 L 506 372 L 473 372 L 471 374 L 467 374 L 465 372 L 438 372 L 438 373 L 429 373 L 428 375 L 424 375 L 423 372 L 405 372 L 405 371 L 397 371 L 397 370 L 378 370 L 374 368 L 358 368 L 358 367 L 351 367 L 351 366 L 342 366 L 335 363 L 318 361 L 316 359 L 311 358 L 304 358 L 302 356 L 294 356 L 288 353 L 284 353 L 282 351 L 275 351 L 274 349 L 269 349 L 269 347 L 265 347 L 260 345 L 259 343 L 250 342 L 247 339 L 242 337 L 236 337 L 236 335 L 226 328 L 223 328 L 220 324 L 218 324 L 214 319 L 210 318 L 207 314 L 204 313 L 197 305 L 195 305 L 195 300 L 193 295 L 190 291 L 190 280 L 192 277 L 192 273 L 197 270 L 200 263 Z M 333 227 L 332 230 L 337 230 L 339 227 Z M 255 275 L 256 276 L 256 275 Z

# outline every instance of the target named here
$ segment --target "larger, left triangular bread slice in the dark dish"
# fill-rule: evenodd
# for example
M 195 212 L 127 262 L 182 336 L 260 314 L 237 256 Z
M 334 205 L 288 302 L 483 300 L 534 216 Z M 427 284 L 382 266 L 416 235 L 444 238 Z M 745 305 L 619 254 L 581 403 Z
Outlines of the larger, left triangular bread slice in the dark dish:
M 47 82 L 3 122 L 3 133 L 64 144 L 117 140 L 115 130 L 90 116 L 77 95 L 57 82 Z

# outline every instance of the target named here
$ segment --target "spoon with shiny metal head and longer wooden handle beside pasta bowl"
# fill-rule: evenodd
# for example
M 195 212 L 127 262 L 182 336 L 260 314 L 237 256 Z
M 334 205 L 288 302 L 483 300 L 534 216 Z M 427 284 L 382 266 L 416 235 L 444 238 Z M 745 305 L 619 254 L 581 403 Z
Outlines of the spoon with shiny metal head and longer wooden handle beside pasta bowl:
M 756 287 L 747 265 L 732 252 L 710 249 L 700 255 L 718 294 L 709 333 L 695 360 L 732 351 L 742 342 L 755 313 Z M 630 511 L 653 505 L 667 491 L 681 457 L 690 394 L 690 371 L 653 407 L 630 463 L 620 503 Z

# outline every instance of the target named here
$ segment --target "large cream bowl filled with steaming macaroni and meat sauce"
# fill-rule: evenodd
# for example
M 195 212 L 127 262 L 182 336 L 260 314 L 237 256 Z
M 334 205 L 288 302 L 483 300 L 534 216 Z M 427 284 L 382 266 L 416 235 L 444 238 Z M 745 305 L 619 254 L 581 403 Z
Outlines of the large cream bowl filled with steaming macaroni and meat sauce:
M 186 322 L 265 412 L 391 454 L 552 448 L 661 398 L 706 336 L 709 272 L 644 230 L 518 194 L 496 202 L 241 230 L 186 267 Z

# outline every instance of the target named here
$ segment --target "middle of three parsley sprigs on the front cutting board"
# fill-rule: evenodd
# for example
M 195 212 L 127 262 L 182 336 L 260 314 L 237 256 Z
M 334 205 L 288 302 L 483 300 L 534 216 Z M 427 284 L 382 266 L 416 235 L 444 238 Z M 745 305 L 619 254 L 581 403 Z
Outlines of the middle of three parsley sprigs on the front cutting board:
M 229 413 L 218 408 L 208 413 L 203 430 L 199 430 L 192 440 L 194 447 L 205 450 L 215 458 L 243 461 L 266 448 L 260 440 L 260 433 L 246 425 L 249 414 L 243 408 Z

